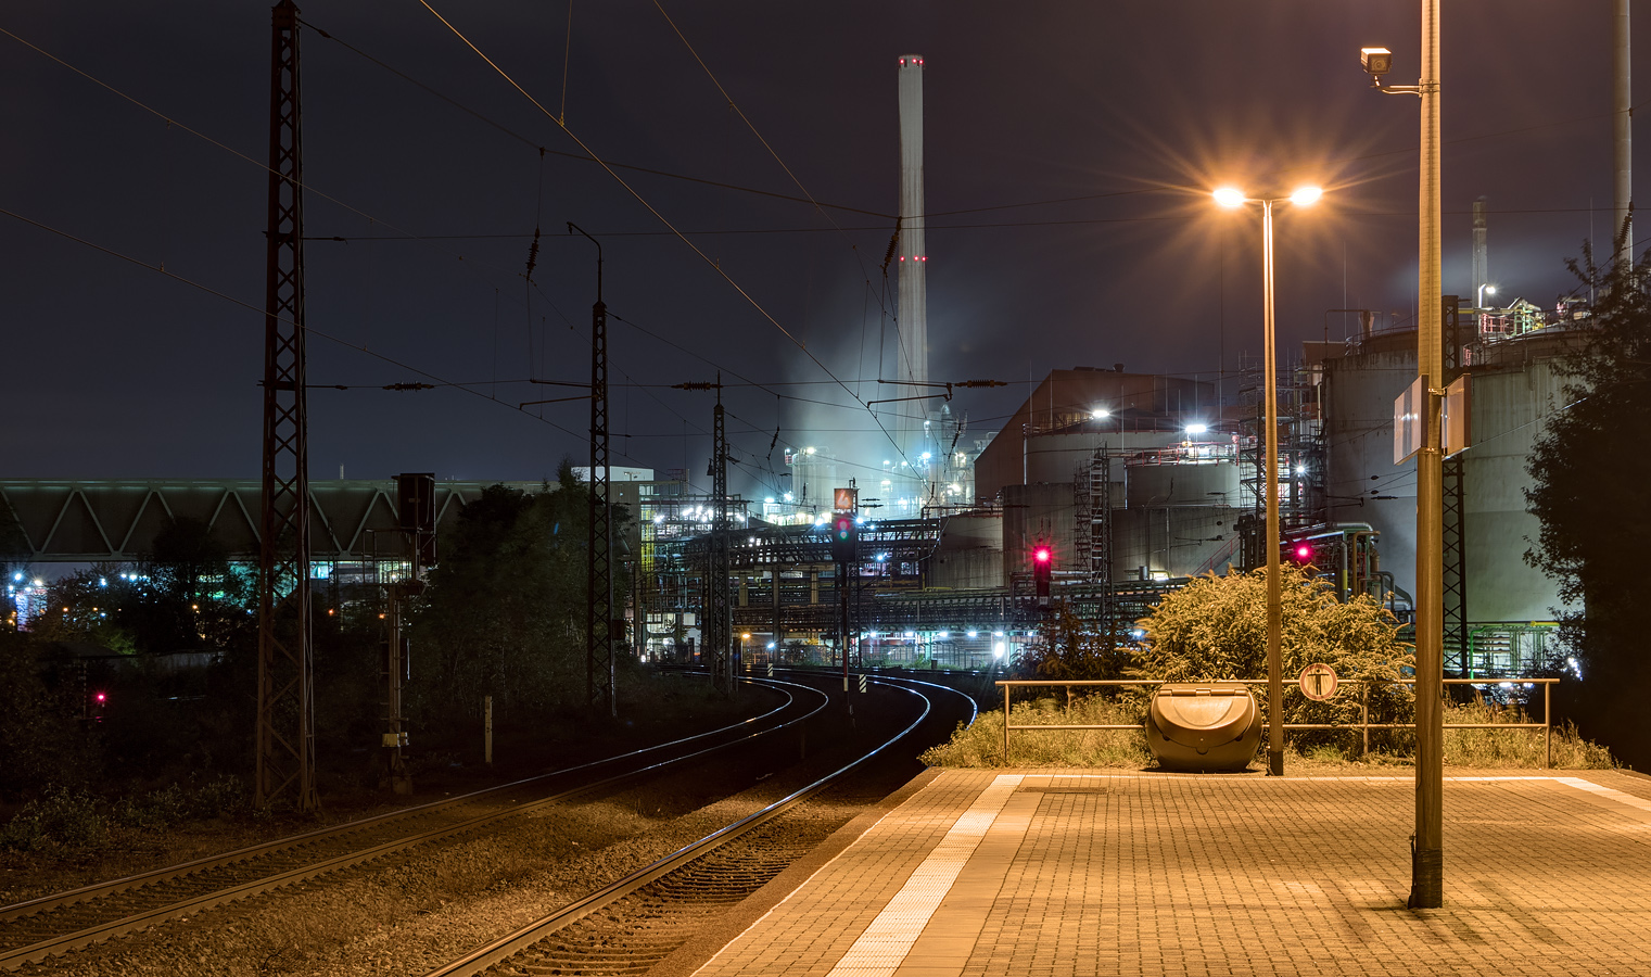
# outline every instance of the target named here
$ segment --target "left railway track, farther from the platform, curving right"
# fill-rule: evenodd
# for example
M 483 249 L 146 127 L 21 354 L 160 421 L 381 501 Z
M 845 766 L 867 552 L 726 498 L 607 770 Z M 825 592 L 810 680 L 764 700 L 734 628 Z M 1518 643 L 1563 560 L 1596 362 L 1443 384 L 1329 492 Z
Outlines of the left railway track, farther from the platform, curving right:
M 421 845 L 474 837 L 525 812 L 677 767 L 797 726 L 829 696 L 786 680 L 746 678 L 784 701 L 741 723 L 551 771 L 487 791 L 362 819 L 0 908 L 0 969 L 17 969 L 167 919 L 269 893 Z

